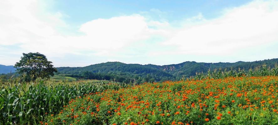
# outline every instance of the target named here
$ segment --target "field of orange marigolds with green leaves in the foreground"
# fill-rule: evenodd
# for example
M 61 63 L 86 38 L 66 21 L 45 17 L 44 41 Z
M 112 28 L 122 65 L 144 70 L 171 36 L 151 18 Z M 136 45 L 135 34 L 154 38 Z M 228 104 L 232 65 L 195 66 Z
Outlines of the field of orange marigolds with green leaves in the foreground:
M 277 76 L 144 83 L 72 99 L 45 125 L 278 124 Z

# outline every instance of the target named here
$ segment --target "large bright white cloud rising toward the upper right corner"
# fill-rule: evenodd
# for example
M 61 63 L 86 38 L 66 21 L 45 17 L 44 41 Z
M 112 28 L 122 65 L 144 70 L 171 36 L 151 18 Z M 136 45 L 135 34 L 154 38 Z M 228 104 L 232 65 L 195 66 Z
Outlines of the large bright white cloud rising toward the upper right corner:
M 202 19 L 202 16 L 197 17 Z M 277 33 L 278 2 L 254 1 L 226 9 L 221 17 L 182 28 L 164 44 L 177 46 L 176 53 L 225 55 L 278 42 Z

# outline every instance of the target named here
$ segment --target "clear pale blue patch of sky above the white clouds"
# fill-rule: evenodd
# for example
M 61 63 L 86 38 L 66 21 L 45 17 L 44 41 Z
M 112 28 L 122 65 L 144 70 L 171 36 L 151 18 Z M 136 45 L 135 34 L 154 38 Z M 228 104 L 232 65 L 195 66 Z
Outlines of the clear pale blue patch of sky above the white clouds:
M 148 16 L 155 19 L 168 21 L 181 20 L 197 15 L 202 12 L 204 17 L 213 18 L 221 14 L 224 8 L 236 7 L 250 2 L 250 0 L 219 1 L 219 0 L 196 0 L 196 1 L 78 1 L 61 0 L 54 1 L 49 9 L 52 12 L 62 12 L 70 16 L 67 22 L 82 24 L 98 18 L 111 18 L 121 15 L 148 12 Z M 151 11 L 153 10 L 153 11 Z M 158 11 L 158 12 L 157 12 Z M 164 14 L 161 14 L 163 12 Z M 162 17 L 159 17 L 159 16 Z

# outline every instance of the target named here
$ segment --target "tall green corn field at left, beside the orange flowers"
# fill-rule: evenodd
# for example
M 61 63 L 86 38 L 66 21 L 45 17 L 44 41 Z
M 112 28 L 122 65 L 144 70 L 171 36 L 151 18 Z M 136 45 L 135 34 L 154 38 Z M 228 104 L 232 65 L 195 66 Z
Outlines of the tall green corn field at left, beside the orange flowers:
M 0 88 L 0 124 L 38 124 L 48 114 L 58 113 L 61 106 L 73 98 L 122 87 L 103 82 L 68 84 L 38 80 L 35 83 L 5 83 Z

